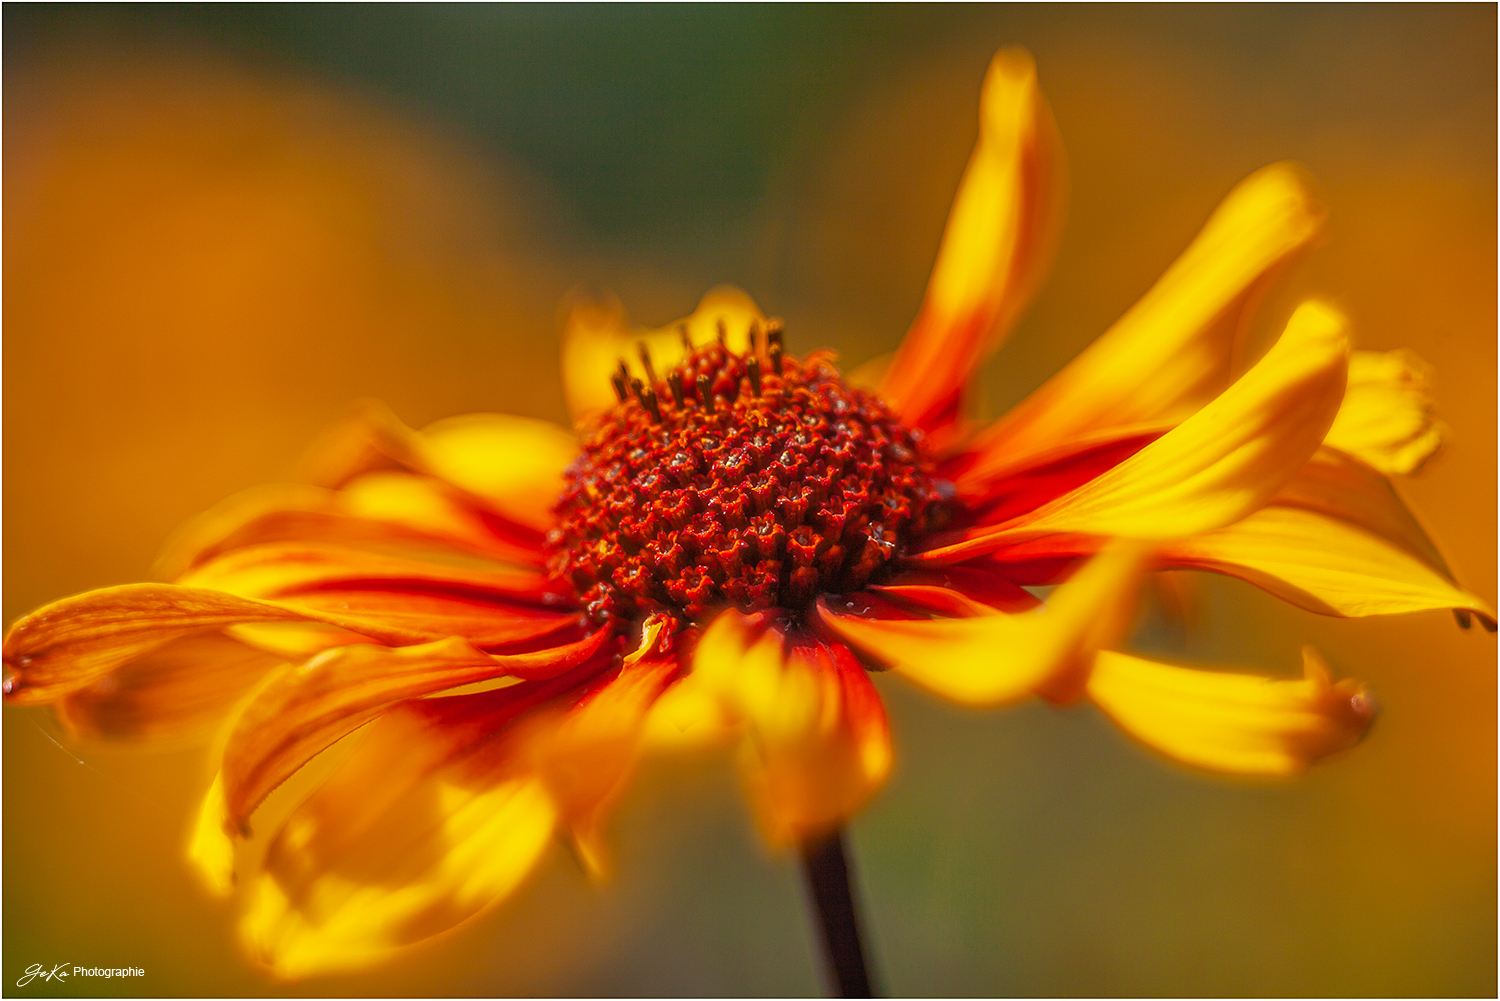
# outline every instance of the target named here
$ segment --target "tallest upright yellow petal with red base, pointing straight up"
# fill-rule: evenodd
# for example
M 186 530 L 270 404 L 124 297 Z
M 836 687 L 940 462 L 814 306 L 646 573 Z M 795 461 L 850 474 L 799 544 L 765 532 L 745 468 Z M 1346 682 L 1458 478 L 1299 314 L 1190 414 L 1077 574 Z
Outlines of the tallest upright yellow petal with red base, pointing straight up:
M 1052 261 L 1065 168 L 1036 66 L 1002 50 L 980 96 L 980 140 L 944 230 L 927 296 L 880 386 L 930 431 L 957 413 L 969 377 L 1000 345 Z

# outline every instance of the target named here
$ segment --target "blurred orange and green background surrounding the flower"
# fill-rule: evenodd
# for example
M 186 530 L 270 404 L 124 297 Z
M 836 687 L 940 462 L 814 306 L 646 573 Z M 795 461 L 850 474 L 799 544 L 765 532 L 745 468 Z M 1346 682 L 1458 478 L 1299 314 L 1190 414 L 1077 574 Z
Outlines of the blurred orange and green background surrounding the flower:
M 556 308 L 644 323 L 718 282 L 850 365 L 914 315 L 990 54 L 1036 56 L 1072 197 L 987 369 L 1000 413 L 1276 159 L 1334 228 L 1268 306 L 1338 297 L 1437 369 L 1446 452 L 1402 486 L 1496 599 L 1496 9 L 6 5 L 4 617 L 142 579 L 184 518 L 286 479 L 360 396 L 412 425 L 562 420 Z M 1354 753 L 1293 782 L 1150 756 L 1088 707 L 969 713 L 879 678 L 896 774 L 852 827 L 900 995 L 1492 995 L 1496 641 L 1338 621 L 1204 578 L 1138 645 L 1371 681 Z M 723 761 L 646 768 L 618 878 L 556 851 L 382 969 L 280 986 L 182 861 L 201 750 L 4 710 L 10 995 L 806 995 L 792 861 Z M 142 980 L 15 987 L 34 962 Z

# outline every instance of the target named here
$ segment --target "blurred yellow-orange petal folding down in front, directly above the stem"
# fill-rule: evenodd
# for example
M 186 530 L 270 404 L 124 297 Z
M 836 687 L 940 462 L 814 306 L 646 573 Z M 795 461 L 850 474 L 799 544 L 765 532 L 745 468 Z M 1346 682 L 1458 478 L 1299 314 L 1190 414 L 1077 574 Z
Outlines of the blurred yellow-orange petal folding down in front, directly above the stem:
M 741 771 L 774 845 L 801 843 L 854 815 L 891 771 L 879 693 L 848 647 L 795 642 L 729 611 L 704 633 L 693 677 L 744 728 Z

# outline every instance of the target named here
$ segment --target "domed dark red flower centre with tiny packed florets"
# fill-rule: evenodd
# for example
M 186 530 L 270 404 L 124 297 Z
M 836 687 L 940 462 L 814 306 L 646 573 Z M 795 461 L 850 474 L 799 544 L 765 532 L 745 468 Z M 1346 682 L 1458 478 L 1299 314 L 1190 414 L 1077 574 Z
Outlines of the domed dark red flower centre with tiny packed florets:
M 686 341 L 686 333 L 684 333 Z M 938 494 L 921 434 L 798 362 L 693 348 L 663 380 L 615 374 L 612 407 L 568 467 L 548 536 L 556 591 L 600 623 L 724 606 L 802 608 L 878 578 L 924 531 Z

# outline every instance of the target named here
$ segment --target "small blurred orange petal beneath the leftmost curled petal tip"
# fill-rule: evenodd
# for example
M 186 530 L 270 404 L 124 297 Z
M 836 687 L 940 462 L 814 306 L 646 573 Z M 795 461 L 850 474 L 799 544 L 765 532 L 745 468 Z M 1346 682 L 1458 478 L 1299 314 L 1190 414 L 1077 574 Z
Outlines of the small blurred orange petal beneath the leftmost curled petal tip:
M 195 740 L 282 663 L 224 633 L 183 636 L 63 696 L 56 711 L 76 737 Z

